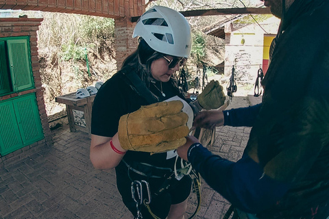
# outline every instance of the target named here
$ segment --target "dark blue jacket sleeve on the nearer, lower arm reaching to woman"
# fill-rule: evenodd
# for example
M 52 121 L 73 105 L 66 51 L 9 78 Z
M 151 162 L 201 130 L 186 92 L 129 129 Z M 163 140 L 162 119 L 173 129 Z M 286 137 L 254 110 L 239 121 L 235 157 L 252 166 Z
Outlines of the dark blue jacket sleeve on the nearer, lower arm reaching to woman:
M 249 213 L 275 205 L 289 189 L 289 184 L 263 175 L 263 169 L 247 155 L 231 162 L 197 143 L 188 149 L 188 161 L 211 188 Z

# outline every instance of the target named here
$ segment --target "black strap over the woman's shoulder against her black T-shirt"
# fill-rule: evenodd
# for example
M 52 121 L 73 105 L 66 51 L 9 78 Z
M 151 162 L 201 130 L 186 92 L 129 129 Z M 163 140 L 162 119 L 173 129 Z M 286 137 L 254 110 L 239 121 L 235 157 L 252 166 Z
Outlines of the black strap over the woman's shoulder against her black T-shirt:
M 141 80 L 140 77 L 135 73 L 132 68 L 123 68 L 120 70 L 121 73 L 125 76 L 123 77 L 127 83 L 134 88 L 139 96 L 142 96 L 147 103 L 157 103 L 159 100 L 156 99 L 156 96 L 149 91 L 145 83 Z

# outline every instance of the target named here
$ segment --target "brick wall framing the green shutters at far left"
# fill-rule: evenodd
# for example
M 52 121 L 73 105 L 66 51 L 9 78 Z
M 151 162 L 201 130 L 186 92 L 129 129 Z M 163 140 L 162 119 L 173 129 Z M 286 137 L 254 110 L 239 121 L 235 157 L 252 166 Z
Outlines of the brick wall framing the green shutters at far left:
M 21 96 L 23 94 L 29 94 L 36 92 L 36 101 L 38 102 L 38 109 L 40 119 L 42 123 L 43 133 L 45 138 L 29 146 L 25 146 L 23 149 L 19 149 L 13 153 L 1 157 L 5 159 L 16 159 L 16 156 L 27 156 L 34 151 L 45 145 L 51 145 L 51 131 L 49 129 L 49 123 L 47 118 L 47 112 L 45 108 L 45 100 L 43 98 L 43 88 L 40 77 L 40 65 L 38 62 L 38 47 L 36 31 L 43 18 L 0 18 L 0 38 L 12 37 L 12 36 L 29 36 L 29 44 L 31 48 L 31 61 L 32 61 L 32 73 L 34 77 L 34 89 L 25 90 L 14 94 L 0 96 L 0 101 L 10 99 L 15 96 Z M 29 153 L 27 152 L 29 151 Z M 24 152 L 22 154 L 22 152 Z

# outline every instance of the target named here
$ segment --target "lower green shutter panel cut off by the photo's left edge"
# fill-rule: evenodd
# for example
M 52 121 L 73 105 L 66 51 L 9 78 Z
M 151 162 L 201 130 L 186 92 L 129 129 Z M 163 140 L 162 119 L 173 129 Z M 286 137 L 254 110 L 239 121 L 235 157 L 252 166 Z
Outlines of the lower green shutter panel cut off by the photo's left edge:
M 12 101 L 0 102 L 0 153 L 6 155 L 22 147 Z

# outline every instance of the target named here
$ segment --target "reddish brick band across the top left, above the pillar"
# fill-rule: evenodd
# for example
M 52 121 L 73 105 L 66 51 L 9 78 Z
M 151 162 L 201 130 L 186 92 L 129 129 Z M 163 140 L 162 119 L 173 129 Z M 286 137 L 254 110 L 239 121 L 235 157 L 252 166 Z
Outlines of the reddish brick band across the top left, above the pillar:
M 0 0 L 0 9 L 88 14 L 108 18 L 141 16 L 143 0 Z

